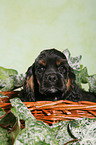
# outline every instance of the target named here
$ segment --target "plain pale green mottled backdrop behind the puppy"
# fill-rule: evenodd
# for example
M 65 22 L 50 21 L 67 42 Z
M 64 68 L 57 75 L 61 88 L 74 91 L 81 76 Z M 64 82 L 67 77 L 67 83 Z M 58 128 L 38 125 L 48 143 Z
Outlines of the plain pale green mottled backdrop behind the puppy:
M 24 73 L 46 48 L 96 73 L 96 0 L 0 0 L 0 66 Z

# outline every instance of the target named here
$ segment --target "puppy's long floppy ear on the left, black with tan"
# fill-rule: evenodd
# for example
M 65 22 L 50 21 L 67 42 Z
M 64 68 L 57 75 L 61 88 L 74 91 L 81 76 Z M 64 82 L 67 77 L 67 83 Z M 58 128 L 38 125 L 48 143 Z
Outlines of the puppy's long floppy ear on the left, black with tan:
M 35 63 L 30 66 L 26 72 L 26 78 L 23 85 L 24 97 L 27 101 L 35 101 L 34 96 L 34 73 L 35 73 Z

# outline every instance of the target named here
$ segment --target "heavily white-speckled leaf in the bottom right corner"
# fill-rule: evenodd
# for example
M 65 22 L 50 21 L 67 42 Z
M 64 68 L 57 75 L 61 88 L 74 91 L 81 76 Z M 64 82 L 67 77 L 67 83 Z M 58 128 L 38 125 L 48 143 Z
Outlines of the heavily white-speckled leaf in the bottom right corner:
M 80 145 L 96 144 L 96 119 L 73 120 L 69 124 L 69 129 L 71 134 L 79 140 Z

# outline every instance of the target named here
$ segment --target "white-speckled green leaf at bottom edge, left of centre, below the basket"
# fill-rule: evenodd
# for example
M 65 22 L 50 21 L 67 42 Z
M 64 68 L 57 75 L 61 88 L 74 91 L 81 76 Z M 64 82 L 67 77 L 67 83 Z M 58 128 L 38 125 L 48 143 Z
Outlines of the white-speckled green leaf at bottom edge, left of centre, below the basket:
M 18 142 L 20 145 L 58 145 L 50 128 L 41 121 L 31 122 L 28 128 L 23 129 L 18 135 L 15 145 L 17 145 Z

